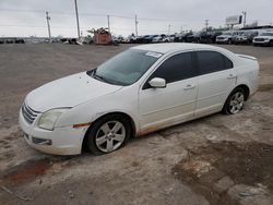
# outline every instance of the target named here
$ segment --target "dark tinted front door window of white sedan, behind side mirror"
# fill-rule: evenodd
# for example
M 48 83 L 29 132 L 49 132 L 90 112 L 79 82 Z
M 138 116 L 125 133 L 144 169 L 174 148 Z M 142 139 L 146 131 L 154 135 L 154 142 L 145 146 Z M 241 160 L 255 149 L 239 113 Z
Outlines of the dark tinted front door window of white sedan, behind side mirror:
M 183 52 L 168 58 L 149 77 L 147 82 L 154 77 L 162 77 L 166 83 L 173 83 L 185 79 L 197 76 L 197 70 L 192 64 L 192 52 Z M 145 83 L 144 89 L 149 88 Z

